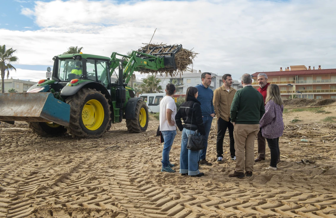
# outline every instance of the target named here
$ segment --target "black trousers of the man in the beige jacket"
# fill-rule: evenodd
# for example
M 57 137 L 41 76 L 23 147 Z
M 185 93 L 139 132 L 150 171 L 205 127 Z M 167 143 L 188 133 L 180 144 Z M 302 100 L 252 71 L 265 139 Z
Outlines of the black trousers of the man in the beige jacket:
M 224 140 L 226 129 L 229 130 L 230 156 L 231 158 L 233 158 L 236 156 L 235 140 L 233 138 L 234 126 L 231 123 L 230 118 L 229 118 L 229 121 L 225 121 L 220 117 L 217 120 L 217 143 L 216 143 L 217 157 L 223 157 L 223 140 Z

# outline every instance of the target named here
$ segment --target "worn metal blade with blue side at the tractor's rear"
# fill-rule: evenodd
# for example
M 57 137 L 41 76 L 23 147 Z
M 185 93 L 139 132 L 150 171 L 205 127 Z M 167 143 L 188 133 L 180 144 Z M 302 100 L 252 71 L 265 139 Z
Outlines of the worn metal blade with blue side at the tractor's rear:
M 70 105 L 50 92 L 1 93 L 0 121 L 54 122 L 69 126 Z

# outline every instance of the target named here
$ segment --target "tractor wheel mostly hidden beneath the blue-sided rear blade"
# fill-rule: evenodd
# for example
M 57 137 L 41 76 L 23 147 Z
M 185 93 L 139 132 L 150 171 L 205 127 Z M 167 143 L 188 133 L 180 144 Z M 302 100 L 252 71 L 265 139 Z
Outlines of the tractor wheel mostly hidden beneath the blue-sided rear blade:
M 64 126 L 50 122 L 28 122 L 28 127 L 32 129 L 33 133 L 43 137 L 53 137 L 63 135 L 67 129 Z

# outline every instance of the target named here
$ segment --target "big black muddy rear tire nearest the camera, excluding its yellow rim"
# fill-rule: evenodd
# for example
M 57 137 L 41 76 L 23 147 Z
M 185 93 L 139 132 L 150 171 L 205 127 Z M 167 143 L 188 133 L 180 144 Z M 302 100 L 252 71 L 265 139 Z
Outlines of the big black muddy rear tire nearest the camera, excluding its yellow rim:
M 88 129 L 82 120 L 83 107 L 89 100 L 99 101 L 104 110 L 102 124 L 95 130 Z M 99 138 L 111 127 L 111 106 L 100 91 L 88 88 L 81 89 L 73 96 L 68 97 L 66 103 L 70 105 L 70 126 L 67 129 L 73 137 Z

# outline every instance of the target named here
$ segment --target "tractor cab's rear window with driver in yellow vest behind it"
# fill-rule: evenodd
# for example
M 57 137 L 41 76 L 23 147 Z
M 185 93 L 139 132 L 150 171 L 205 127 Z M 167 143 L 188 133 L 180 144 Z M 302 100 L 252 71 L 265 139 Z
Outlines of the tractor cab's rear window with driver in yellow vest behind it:
M 82 61 L 74 59 L 58 60 L 57 77 L 61 81 L 70 81 L 82 75 Z

